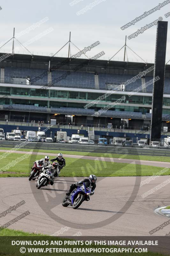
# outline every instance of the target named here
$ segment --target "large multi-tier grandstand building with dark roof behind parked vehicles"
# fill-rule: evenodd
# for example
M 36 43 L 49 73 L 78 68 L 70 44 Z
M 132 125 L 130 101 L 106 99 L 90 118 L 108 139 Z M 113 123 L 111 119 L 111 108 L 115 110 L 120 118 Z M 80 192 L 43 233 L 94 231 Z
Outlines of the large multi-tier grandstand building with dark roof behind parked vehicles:
M 0 62 L 1 126 L 6 120 L 24 120 L 25 123 L 35 120 L 35 123 L 43 121 L 50 124 L 51 119 L 56 119 L 56 124 L 71 123 L 73 129 L 73 126 L 82 124 L 95 127 L 95 135 L 124 136 L 128 130 L 126 136 L 134 137 L 136 132 L 133 130 L 147 131 L 150 126 L 153 83 L 144 85 L 153 79 L 153 65 L 11 55 Z M 149 68 L 152 71 L 134 82 L 130 80 Z M 129 80 L 131 82 L 127 83 Z M 108 91 L 113 93 L 103 97 Z M 103 108 L 107 110 L 102 111 Z M 169 121 L 170 65 L 166 65 L 162 130 L 166 126 L 170 131 Z M 107 134 L 107 129 L 101 132 L 98 128 L 117 129 L 117 133 L 110 129 Z M 121 133 L 118 129 L 124 131 Z M 87 136 L 86 130 L 83 129 Z

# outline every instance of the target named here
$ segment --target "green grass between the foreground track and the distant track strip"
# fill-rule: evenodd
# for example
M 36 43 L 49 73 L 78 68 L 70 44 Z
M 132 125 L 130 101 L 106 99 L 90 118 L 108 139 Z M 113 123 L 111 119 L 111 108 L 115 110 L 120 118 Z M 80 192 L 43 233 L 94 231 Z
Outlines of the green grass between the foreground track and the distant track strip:
M 0 157 L 3 153 L 0 152 Z M 31 167 L 35 160 L 41 159 L 44 155 L 27 155 L 21 161 L 20 157 L 24 154 L 11 153 L 6 158 L 1 159 L 0 177 L 28 177 L 30 175 Z M 9 168 L 5 168 L 7 164 L 18 160 L 17 164 Z M 62 177 L 86 177 L 90 173 L 98 177 L 116 177 L 116 176 L 152 176 L 162 170 L 162 167 L 113 163 L 97 160 L 86 160 L 76 158 L 66 158 L 66 166 L 61 170 Z M 169 175 L 169 171 L 163 175 Z

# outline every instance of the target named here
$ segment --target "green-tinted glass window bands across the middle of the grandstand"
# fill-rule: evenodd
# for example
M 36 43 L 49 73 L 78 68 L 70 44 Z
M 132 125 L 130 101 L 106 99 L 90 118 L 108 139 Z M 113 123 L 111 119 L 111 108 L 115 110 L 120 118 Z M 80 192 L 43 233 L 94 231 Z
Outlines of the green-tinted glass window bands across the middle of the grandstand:
M 0 94 L 7 96 L 20 96 L 26 97 L 25 99 L 9 99 L 9 98 L 0 98 L 0 104 L 39 104 L 39 106 L 47 106 L 47 107 L 72 107 L 72 108 L 84 108 L 84 106 L 91 102 L 92 100 L 96 100 L 98 97 L 102 96 L 103 93 L 96 92 L 78 92 L 76 91 L 61 91 L 61 90 L 37 90 L 35 88 L 22 88 L 22 87 L 6 87 L 0 86 Z M 33 100 L 34 97 L 42 98 L 43 100 Z M 90 108 L 98 110 L 100 108 L 104 108 L 108 105 L 109 102 L 114 102 L 122 97 L 122 94 L 111 94 L 101 100 L 105 104 L 94 104 Z M 144 106 L 135 106 L 135 105 L 150 105 L 152 106 L 152 97 L 150 96 L 138 96 L 125 95 L 125 100 L 122 103 L 129 104 L 126 106 L 123 105 L 115 105 L 110 110 L 118 110 L 118 111 L 135 111 L 142 112 L 143 114 L 148 113 L 151 107 Z M 47 100 L 44 100 L 47 99 Z M 54 99 L 54 100 L 48 100 Z M 63 100 L 58 101 L 57 99 Z M 64 100 L 77 100 L 77 102 L 64 102 Z M 80 103 L 78 101 L 85 101 L 85 103 Z M 130 106 L 133 104 L 133 106 Z M 170 107 L 170 98 L 164 98 L 163 106 Z M 163 112 L 165 114 L 169 113 L 168 109 L 164 109 Z

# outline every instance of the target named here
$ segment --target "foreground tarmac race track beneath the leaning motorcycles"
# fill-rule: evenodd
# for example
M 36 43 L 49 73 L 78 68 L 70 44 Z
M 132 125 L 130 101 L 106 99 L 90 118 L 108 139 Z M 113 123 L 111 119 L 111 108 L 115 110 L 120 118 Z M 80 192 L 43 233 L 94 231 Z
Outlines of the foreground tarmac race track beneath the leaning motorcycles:
M 30 214 L 9 226 L 12 229 L 52 235 L 67 226 L 60 236 L 149 236 L 149 231 L 169 220 L 154 213 L 159 206 L 170 205 L 169 184 L 151 195 L 142 194 L 169 176 L 159 176 L 140 187 L 141 180 L 148 177 L 98 178 L 97 187 L 89 202 L 79 209 L 63 207 L 61 202 L 71 183 L 81 178 L 55 180 L 53 186 L 36 188 L 36 181 L 28 178 L 0 178 L 0 213 L 25 200 L 25 204 L 0 218 L 0 226 L 23 212 Z M 109 219 L 110 218 L 110 219 Z M 170 232 L 167 225 L 153 236 L 165 236 Z M 61 233 L 61 231 L 60 231 Z

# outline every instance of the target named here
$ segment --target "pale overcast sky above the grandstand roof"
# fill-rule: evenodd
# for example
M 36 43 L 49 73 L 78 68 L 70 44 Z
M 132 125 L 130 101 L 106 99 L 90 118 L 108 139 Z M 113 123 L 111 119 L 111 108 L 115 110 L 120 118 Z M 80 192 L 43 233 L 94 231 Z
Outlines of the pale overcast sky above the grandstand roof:
M 77 0 L 78 2 L 79 0 Z M 165 5 L 160 10 L 139 20 L 135 25 L 124 30 L 123 25 L 134 20 L 144 12 L 162 3 L 161 0 L 97 0 L 91 10 L 87 10 L 84 14 L 77 15 L 81 9 L 89 6 L 94 0 L 81 0 L 80 2 L 70 5 L 72 0 L 1 0 L 0 6 L 0 43 L 10 39 L 13 36 L 13 28 L 15 33 L 19 34 L 26 28 L 32 26 L 36 22 L 48 17 L 48 20 L 37 28 L 32 29 L 29 33 L 25 33 L 18 37 L 18 40 L 24 44 L 33 37 L 48 30 L 51 31 L 45 36 L 26 46 L 26 48 L 34 55 L 51 55 L 57 52 L 68 40 L 71 31 L 71 42 L 79 49 L 91 45 L 96 41 L 100 44 L 87 52 L 88 57 L 92 57 L 98 52 L 104 51 L 105 55 L 100 59 L 110 59 L 125 43 L 127 37 L 136 32 L 141 27 L 152 21 L 162 17 L 164 21 L 170 21 L 170 16 L 165 14 L 170 12 L 170 4 Z M 136 52 L 142 59 L 147 62 L 154 62 L 155 57 L 155 41 L 156 27 L 147 29 L 143 34 L 128 39 L 127 45 Z M 50 29 L 50 30 L 49 30 Z M 15 53 L 28 53 L 15 42 L 17 51 Z M 0 49 L 0 52 L 11 52 L 12 42 L 6 44 Z M 71 54 L 76 54 L 78 50 L 71 44 Z M 56 56 L 66 57 L 68 55 L 68 45 L 66 45 Z M 123 60 L 123 49 L 115 56 L 114 60 Z M 127 50 L 129 61 L 140 61 L 129 49 Z M 83 56 L 81 56 L 83 57 Z M 126 57 L 127 59 L 127 57 Z M 166 62 L 170 59 L 170 26 L 168 26 Z M 169 62 L 170 64 L 170 62 Z

